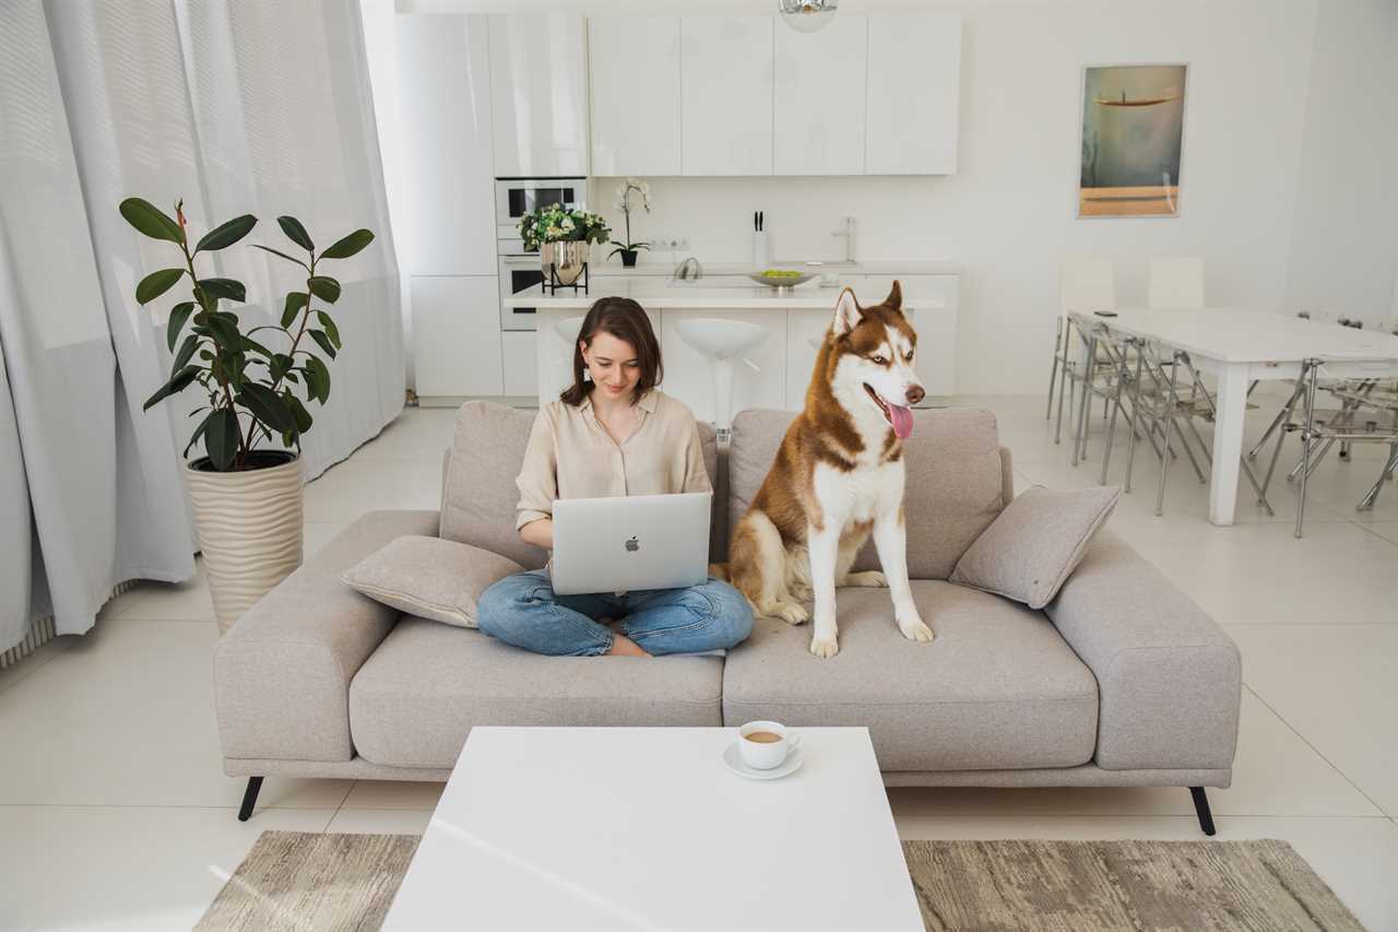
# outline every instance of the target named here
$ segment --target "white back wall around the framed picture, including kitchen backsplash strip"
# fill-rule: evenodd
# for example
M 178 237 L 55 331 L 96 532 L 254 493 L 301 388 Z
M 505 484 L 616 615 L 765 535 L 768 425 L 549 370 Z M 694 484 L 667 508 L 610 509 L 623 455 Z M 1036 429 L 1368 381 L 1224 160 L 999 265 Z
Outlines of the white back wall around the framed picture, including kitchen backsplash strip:
M 1144 301 L 1149 256 L 1199 255 L 1211 304 L 1281 306 L 1311 0 L 960 8 L 956 175 L 650 179 L 656 213 L 635 235 L 685 235 L 702 260 L 744 262 L 762 209 L 774 257 L 836 257 L 843 245 L 829 234 L 851 214 L 858 257 L 958 262 L 963 393 L 1046 389 L 1067 255 L 1116 256 L 1124 305 Z M 1181 214 L 1076 220 L 1082 67 L 1134 62 L 1190 64 Z M 594 207 L 611 216 L 614 182 L 596 188 Z

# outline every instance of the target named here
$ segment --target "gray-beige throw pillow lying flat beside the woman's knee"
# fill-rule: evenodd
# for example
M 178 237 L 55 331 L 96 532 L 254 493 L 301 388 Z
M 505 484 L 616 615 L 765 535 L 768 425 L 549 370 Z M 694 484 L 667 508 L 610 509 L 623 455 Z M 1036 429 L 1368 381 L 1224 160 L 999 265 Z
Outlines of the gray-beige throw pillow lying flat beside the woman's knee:
M 400 612 L 475 627 L 475 600 L 498 579 L 523 572 L 509 557 L 471 544 L 408 535 L 365 557 L 340 581 Z

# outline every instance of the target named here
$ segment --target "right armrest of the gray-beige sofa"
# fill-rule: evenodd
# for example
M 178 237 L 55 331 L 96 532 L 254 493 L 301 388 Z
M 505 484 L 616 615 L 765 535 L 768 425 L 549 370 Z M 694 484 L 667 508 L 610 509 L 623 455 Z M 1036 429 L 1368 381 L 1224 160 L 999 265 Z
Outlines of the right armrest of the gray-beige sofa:
M 1227 770 L 1243 669 L 1213 619 L 1103 530 L 1044 613 L 1097 677 L 1103 770 Z

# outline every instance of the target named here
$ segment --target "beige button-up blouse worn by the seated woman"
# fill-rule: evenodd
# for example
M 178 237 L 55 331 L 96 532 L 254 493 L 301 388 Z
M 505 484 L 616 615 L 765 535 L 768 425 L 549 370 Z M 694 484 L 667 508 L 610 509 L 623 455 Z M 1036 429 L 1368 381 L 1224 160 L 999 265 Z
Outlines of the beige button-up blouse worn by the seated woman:
M 650 390 L 636 406 L 640 423 L 617 444 L 597 420 L 591 399 L 538 410 L 524 466 L 514 528 L 554 516 L 558 498 L 665 495 L 713 491 L 699 449 L 699 427 L 684 402 Z

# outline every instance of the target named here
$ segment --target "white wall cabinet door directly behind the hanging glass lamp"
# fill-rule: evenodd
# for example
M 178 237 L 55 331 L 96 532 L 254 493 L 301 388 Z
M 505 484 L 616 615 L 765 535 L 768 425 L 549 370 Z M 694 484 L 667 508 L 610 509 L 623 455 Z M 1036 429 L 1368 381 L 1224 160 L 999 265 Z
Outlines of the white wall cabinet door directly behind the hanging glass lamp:
M 774 171 L 863 175 L 868 18 L 840 13 L 819 32 L 776 29 Z

